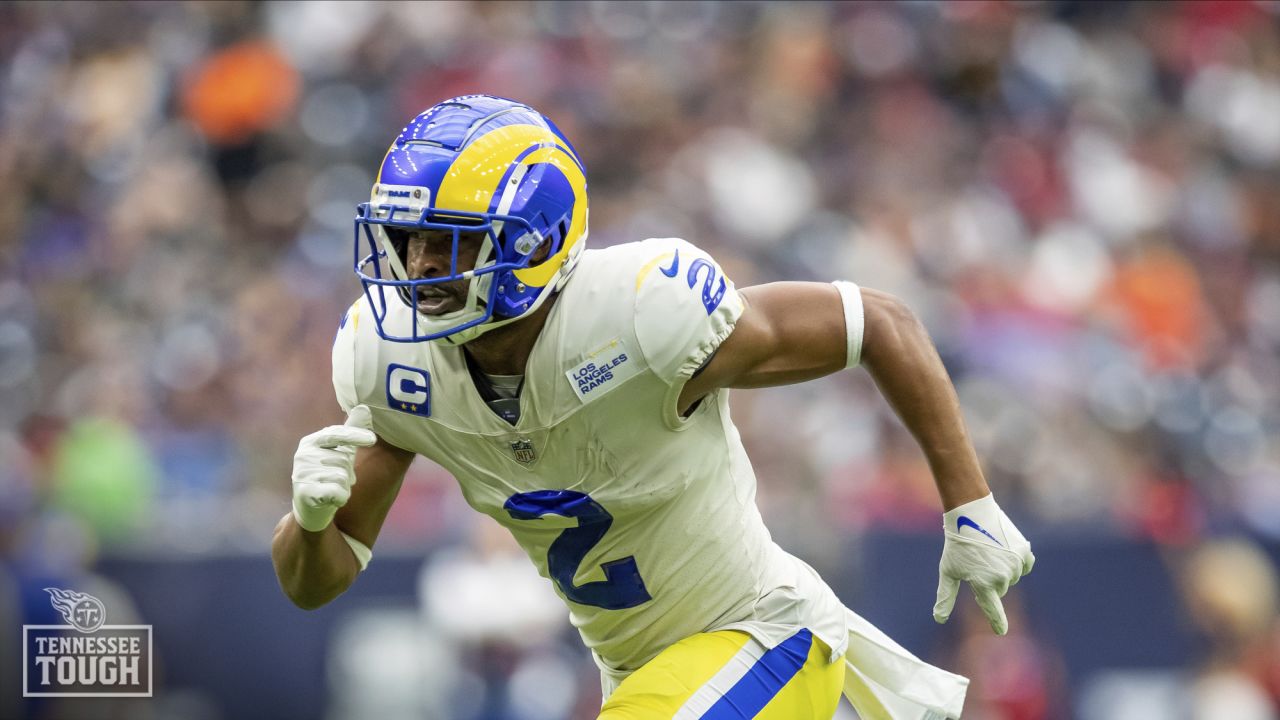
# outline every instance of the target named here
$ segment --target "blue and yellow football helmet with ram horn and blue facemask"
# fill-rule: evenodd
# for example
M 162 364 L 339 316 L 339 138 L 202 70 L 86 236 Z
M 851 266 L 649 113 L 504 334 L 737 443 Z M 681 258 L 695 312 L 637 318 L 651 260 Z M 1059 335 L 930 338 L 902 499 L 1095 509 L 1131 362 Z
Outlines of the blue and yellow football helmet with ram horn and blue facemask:
M 396 342 L 461 345 L 536 310 L 568 278 L 586 246 L 586 177 L 573 146 L 527 105 L 463 95 L 421 113 L 383 158 L 369 202 L 356 214 L 356 274 L 378 334 Z M 403 231 L 451 231 L 448 274 L 410 278 Z M 474 268 L 458 245 L 484 233 Z M 534 264 L 539 249 L 545 259 Z M 470 279 L 461 310 L 419 313 L 422 288 Z M 413 316 L 384 323 L 388 290 Z M 394 302 L 394 300 L 393 300 Z

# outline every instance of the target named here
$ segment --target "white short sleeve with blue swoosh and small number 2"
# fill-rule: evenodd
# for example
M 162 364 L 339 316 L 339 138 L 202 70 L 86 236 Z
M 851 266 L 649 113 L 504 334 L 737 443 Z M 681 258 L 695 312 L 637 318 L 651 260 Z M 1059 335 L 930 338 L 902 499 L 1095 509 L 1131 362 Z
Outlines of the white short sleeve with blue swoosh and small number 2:
M 635 332 L 649 368 L 671 386 L 667 413 L 692 374 L 733 332 L 742 299 L 710 255 L 684 240 L 649 241 L 636 281 Z

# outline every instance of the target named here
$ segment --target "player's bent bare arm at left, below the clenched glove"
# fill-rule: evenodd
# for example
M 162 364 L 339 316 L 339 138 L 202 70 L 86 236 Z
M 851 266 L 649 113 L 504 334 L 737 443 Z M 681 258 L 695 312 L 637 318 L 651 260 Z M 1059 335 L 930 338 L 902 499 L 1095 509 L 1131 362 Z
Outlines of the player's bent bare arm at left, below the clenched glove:
M 360 574 L 360 561 L 343 533 L 365 547 L 374 546 L 412 461 L 413 454 L 379 438 L 356 451 L 358 482 L 332 523 L 310 532 L 293 512 L 280 519 L 271 539 L 271 561 L 280 588 L 294 605 L 314 610 L 351 587 Z

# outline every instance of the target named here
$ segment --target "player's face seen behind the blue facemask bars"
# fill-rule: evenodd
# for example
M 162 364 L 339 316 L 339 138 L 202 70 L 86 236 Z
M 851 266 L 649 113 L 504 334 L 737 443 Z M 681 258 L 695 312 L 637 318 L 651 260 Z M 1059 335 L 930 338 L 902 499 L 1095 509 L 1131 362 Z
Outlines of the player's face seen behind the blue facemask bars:
M 401 258 L 404 258 L 404 270 L 410 279 L 430 279 L 449 274 L 453 255 L 453 233 L 451 231 L 388 229 L 387 234 Z M 484 233 L 458 236 L 458 265 L 454 272 L 462 273 L 475 268 L 483 241 Z M 462 279 L 419 287 L 417 310 L 426 315 L 442 315 L 461 310 L 466 304 L 470 282 Z

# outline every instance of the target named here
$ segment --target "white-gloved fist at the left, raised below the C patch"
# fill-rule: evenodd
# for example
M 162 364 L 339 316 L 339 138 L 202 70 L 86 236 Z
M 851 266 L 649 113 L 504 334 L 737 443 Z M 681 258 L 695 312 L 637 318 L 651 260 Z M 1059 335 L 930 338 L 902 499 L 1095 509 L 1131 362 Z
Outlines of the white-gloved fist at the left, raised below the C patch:
M 293 518 L 305 530 L 329 527 L 356 484 L 356 448 L 378 442 L 369 406 L 357 405 L 347 424 L 329 425 L 298 442 L 293 455 Z

